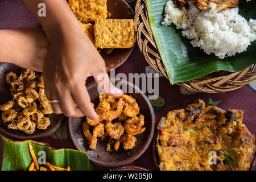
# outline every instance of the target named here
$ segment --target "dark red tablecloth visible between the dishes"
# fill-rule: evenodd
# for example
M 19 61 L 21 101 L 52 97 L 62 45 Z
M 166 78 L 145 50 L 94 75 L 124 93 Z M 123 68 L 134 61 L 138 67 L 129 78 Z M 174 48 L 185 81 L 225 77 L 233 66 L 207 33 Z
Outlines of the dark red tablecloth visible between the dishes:
M 135 8 L 135 0 L 127 1 L 130 6 Z M 0 0 L 0 29 L 18 28 L 18 27 L 40 27 L 35 17 L 28 11 L 22 0 Z M 138 46 L 135 46 L 133 53 L 121 67 L 115 70 L 115 74 L 125 73 L 146 73 L 146 70 L 152 69 L 146 63 Z M 209 100 L 214 102 L 220 101 L 218 107 L 224 110 L 240 109 L 245 112 L 243 123 L 249 128 L 251 133 L 256 134 L 256 83 L 243 86 L 238 90 L 226 93 L 190 93 L 188 90 L 181 88 L 178 85 L 170 85 L 170 82 L 164 78 L 159 78 L 159 96 L 165 101 L 162 109 L 155 111 L 156 123 L 159 119 L 168 113 L 168 111 L 175 109 L 178 106 L 189 104 L 197 98 L 201 98 L 206 104 Z M 54 148 L 74 148 L 71 140 L 69 140 L 67 133 L 67 123 L 64 123 L 55 134 L 39 140 L 39 142 L 49 143 Z M 0 168 L 2 165 L 3 145 L 0 140 Z M 152 160 L 151 146 L 147 148 L 146 152 L 135 162 L 129 164 L 133 166 L 144 167 L 150 170 L 155 170 Z M 109 168 L 102 168 L 94 166 L 94 170 L 109 170 Z

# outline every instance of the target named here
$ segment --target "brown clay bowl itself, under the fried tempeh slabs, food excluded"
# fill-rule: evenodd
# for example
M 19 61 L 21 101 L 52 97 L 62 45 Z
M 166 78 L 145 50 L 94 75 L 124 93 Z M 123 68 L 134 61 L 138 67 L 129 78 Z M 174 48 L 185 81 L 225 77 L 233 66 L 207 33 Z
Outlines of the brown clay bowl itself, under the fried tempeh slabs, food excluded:
M 108 0 L 107 6 L 108 12 L 111 13 L 109 19 L 134 19 L 133 10 L 125 0 Z M 107 71 L 109 72 L 110 69 L 118 68 L 125 63 L 133 48 L 113 49 L 113 52 L 110 54 L 107 54 L 105 49 L 101 49 L 100 54 L 105 60 Z

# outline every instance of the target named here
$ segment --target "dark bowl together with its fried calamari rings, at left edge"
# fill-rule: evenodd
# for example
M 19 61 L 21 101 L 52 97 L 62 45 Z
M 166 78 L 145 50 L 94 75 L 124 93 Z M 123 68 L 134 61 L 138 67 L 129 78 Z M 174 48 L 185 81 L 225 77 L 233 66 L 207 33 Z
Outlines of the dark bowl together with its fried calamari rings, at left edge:
M 53 134 L 64 115 L 53 113 L 42 75 L 9 63 L 0 69 L 0 133 L 18 140 Z

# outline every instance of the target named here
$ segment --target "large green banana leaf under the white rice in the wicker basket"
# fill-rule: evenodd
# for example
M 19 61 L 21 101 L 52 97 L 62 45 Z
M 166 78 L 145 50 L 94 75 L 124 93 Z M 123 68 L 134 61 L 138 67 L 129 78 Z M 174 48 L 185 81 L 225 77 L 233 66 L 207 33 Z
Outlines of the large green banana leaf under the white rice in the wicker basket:
M 207 55 L 200 48 L 192 47 L 174 24 L 161 24 L 167 2 L 168 0 L 146 0 L 146 6 L 156 46 L 171 84 L 193 80 L 220 70 L 236 72 L 256 63 L 256 41 L 251 43 L 246 52 L 225 59 L 218 59 L 213 53 Z M 238 5 L 239 14 L 247 20 L 256 19 L 255 5 L 255 0 L 241 0 Z

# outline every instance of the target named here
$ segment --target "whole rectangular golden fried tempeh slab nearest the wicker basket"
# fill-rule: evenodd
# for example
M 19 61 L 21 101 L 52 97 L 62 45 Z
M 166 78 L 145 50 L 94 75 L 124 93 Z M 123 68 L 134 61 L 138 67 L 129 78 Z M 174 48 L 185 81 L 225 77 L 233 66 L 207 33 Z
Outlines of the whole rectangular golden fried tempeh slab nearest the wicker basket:
M 135 43 L 133 19 L 97 19 L 94 34 L 97 48 L 130 48 Z

